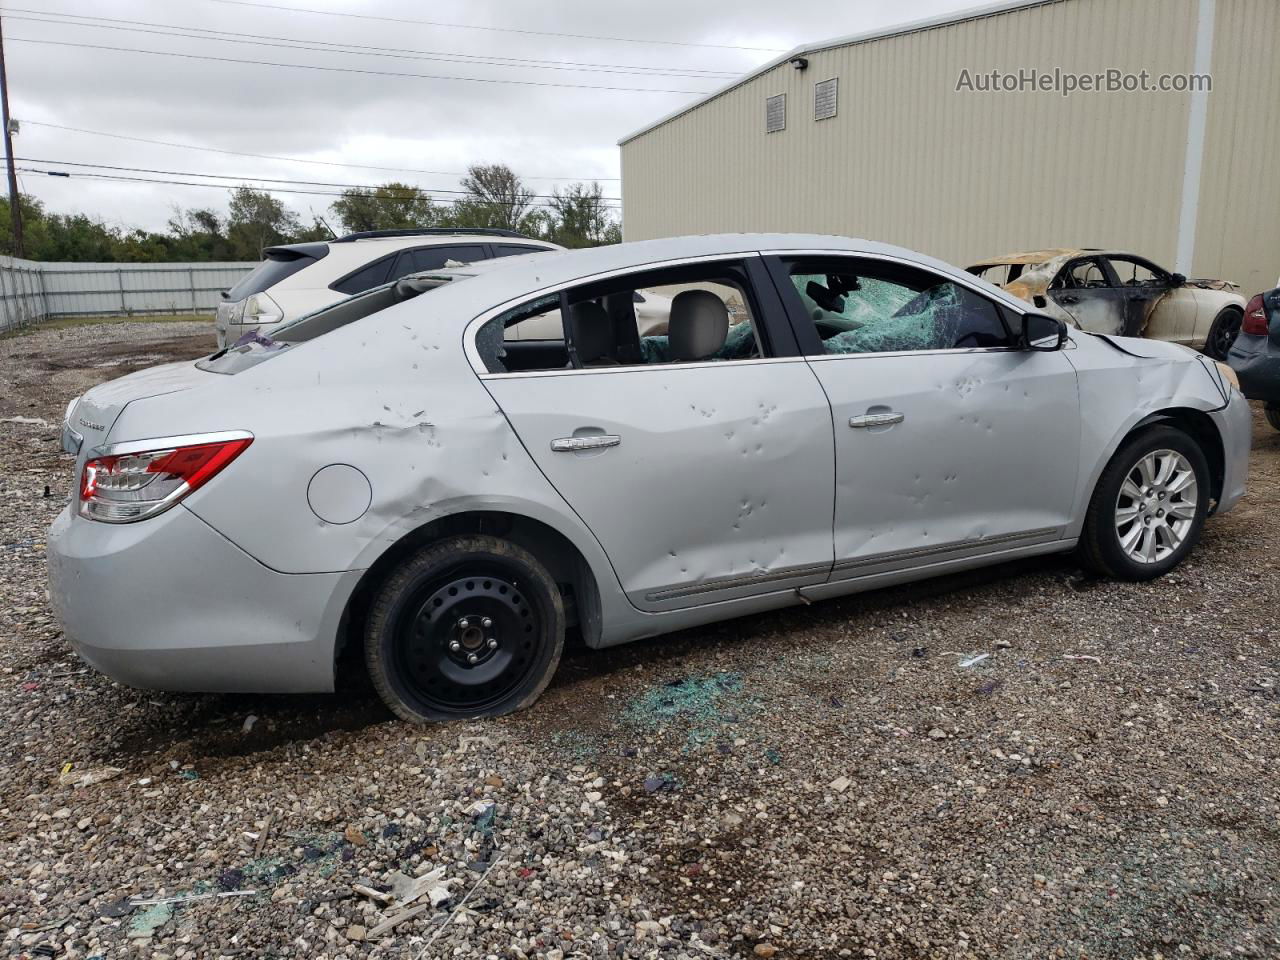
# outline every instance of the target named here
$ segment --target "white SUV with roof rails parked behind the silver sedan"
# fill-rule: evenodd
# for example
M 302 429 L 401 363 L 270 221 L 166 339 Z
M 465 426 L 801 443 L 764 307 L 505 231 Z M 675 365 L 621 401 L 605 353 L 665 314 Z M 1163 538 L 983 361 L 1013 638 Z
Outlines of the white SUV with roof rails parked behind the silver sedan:
M 218 346 L 246 333 L 270 335 L 282 324 L 411 273 L 548 250 L 562 247 L 512 230 L 461 228 L 367 230 L 268 247 L 262 262 L 223 292 L 214 320 Z

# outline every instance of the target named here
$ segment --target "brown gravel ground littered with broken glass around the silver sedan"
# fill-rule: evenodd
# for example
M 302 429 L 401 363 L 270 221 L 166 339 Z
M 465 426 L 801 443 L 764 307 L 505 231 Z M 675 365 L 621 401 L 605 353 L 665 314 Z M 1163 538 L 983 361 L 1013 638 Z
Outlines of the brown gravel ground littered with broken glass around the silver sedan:
M 1157 582 L 1046 559 L 575 650 L 532 709 L 421 730 L 358 682 L 143 692 L 67 648 L 54 425 L 210 344 L 180 323 L 0 340 L 0 420 L 47 424 L 0 422 L 8 955 L 1280 955 L 1261 411 L 1248 498 Z

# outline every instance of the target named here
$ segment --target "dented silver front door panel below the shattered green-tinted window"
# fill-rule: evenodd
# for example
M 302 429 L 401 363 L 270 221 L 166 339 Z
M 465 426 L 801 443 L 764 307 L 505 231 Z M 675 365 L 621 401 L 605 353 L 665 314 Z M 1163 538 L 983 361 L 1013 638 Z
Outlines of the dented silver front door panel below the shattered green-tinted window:
M 1061 352 L 815 357 L 836 424 L 833 580 L 1060 539 L 1079 458 Z M 877 429 L 850 420 L 901 420 Z

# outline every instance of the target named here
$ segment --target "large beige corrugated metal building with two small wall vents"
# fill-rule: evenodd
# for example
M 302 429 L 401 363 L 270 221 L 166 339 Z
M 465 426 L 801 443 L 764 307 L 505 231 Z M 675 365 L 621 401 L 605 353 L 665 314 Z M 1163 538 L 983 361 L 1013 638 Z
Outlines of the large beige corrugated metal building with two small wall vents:
M 1277 0 L 1014 0 L 799 47 L 620 142 L 625 238 L 836 233 L 959 265 L 1128 248 L 1266 289 L 1277 41 Z M 1211 84 L 982 90 L 1055 69 Z

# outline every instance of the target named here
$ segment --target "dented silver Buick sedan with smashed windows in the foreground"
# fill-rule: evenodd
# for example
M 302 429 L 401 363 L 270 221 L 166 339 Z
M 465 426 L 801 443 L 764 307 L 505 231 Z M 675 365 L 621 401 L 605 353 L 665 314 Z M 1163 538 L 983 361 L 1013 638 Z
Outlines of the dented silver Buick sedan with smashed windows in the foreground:
M 672 292 L 643 334 L 636 291 Z M 559 339 L 511 339 L 563 317 Z M 407 278 L 68 408 L 73 646 L 142 687 L 506 713 L 593 648 L 1038 554 L 1160 576 L 1244 490 L 1248 404 L 832 237 L 623 243 Z

